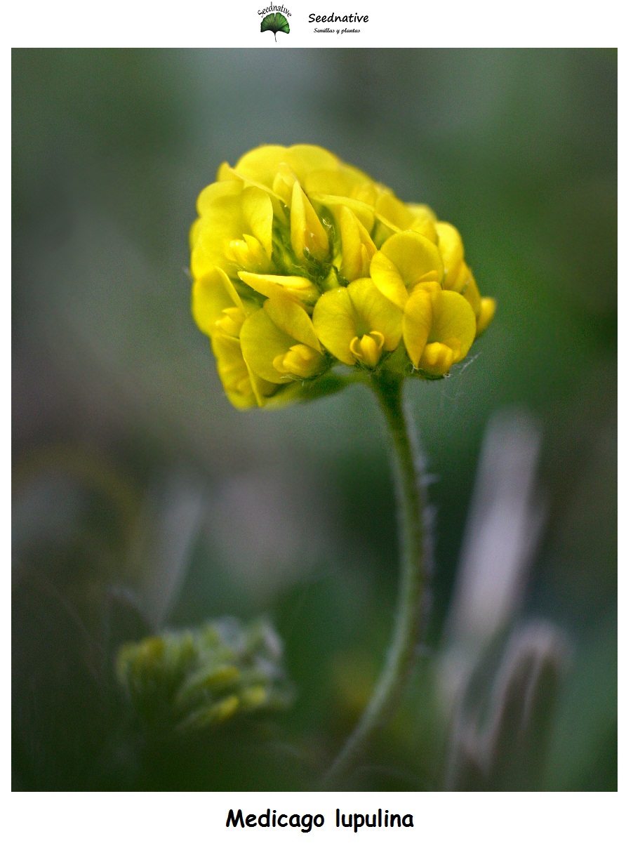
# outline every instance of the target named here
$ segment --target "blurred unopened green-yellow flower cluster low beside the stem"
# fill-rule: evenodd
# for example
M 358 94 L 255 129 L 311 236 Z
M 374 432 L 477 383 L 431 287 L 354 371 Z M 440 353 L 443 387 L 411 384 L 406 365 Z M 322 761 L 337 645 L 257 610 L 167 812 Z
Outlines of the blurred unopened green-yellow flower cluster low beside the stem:
M 264 621 L 210 622 L 124 645 L 117 676 L 137 716 L 177 731 L 287 707 L 282 643 Z

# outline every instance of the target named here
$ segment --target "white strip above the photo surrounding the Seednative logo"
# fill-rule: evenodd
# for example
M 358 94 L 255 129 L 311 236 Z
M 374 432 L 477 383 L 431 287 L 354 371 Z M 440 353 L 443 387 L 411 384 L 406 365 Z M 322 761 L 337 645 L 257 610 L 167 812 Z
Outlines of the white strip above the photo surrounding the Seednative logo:
M 276 5 L 280 5 L 278 0 Z M 148 3 L 31 0 L 8 7 L 12 47 L 616 47 L 617 3 L 554 0 L 289 0 L 289 34 L 260 32 L 270 0 Z M 309 14 L 367 14 L 344 36 L 314 33 Z M 335 25 L 330 24 L 334 28 Z

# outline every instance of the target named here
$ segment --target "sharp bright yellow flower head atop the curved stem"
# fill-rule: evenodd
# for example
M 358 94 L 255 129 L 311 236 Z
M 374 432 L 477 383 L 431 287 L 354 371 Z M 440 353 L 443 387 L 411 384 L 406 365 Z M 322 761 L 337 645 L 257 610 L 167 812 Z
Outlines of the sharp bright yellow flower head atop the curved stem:
M 198 216 L 193 316 L 241 409 L 297 399 L 339 363 L 443 377 L 495 311 L 454 226 L 323 148 L 224 163 Z

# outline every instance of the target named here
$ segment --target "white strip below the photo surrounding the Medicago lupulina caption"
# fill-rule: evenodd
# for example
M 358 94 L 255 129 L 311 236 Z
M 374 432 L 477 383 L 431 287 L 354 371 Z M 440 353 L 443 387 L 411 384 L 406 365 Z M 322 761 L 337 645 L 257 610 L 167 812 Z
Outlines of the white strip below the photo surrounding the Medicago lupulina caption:
M 226 828 L 231 807 L 321 812 L 322 828 Z M 413 828 L 335 826 L 342 812 L 412 812 Z M 204 848 L 214 845 L 415 845 L 561 848 L 623 844 L 618 793 L 14 793 L 10 845 Z M 621 816 L 623 820 L 623 815 Z M 619 837 L 618 834 L 622 834 Z

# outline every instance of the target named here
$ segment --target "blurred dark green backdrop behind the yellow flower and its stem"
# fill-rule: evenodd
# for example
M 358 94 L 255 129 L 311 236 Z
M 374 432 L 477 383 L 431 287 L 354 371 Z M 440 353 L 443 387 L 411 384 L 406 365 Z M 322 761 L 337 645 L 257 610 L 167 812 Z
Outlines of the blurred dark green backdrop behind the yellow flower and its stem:
M 617 51 L 12 65 L 14 788 L 312 788 L 382 665 L 397 548 L 373 398 L 235 410 L 189 313 L 199 190 L 249 148 L 306 142 L 454 223 L 498 301 L 469 362 L 407 388 L 436 510 L 428 638 L 352 786 L 444 783 L 437 657 L 483 434 L 508 410 L 540 433 L 545 520 L 506 628 L 550 622 L 569 657 L 529 788 L 615 789 Z M 224 615 L 269 616 L 293 706 L 204 747 L 151 740 L 115 650 Z

